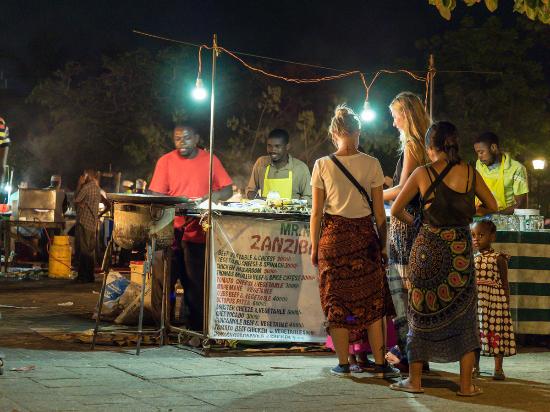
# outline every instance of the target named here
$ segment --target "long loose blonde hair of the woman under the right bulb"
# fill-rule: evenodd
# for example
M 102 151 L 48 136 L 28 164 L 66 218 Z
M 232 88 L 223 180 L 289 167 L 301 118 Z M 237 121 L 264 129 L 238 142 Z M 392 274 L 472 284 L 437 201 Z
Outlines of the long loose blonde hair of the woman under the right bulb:
M 405 118 L 405 127 L 400 130 L 401 151 L 409 145 L 409 150 L 418 165 L 429 162 L 424 136 L 432 123 L 426 113 L 422 99 L 411 92 L 401 92 L 390 103 L 390 109 L 399 111 Z

